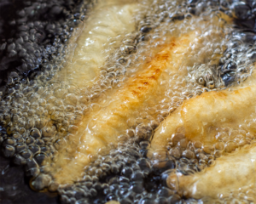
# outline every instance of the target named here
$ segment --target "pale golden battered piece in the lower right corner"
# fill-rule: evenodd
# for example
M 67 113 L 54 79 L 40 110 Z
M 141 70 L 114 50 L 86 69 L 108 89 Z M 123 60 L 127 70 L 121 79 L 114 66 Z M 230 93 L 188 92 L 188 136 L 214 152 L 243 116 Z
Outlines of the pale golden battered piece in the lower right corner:
M 207 167 L 203 173 L 184 176 L 182 173 L 171 173 L 166 184 L 195 199 L 217 199 L 221 195 L 230 195 L 241 187 L 250 186 L 255 190 L 256 145 L 246 146 L 235 154 L 220 157 L 216 164 Z M 256 196 L 250 196 L 250 201 Z M 212 200 L 209 201 L 209 203 Z

